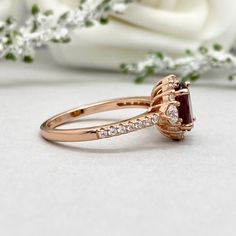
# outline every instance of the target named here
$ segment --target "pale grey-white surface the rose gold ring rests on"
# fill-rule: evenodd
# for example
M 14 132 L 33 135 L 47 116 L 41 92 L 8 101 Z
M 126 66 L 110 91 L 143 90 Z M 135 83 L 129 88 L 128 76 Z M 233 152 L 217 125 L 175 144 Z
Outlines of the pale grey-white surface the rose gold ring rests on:
M 149 128 L 59 145 L 40 138 L 42 121 L 98 100 L 149 95 L 153 81 L 65 69 L 45 52 L 34 65 L 1 62 L 0 235 L 235 235 L 236 83 L 223 77 L 192 87 L 197 122 L 184 142 Z

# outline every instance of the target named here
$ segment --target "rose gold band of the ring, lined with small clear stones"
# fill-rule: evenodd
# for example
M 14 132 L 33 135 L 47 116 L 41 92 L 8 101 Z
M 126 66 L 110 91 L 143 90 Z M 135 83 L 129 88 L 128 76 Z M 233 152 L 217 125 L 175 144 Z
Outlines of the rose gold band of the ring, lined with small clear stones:
M 138 126 L 135 126 L 136 121 L 144 121 L 152 116 L 145 112 L 139 116 L 123 120 L 116 123 L 111 123 L 103 126 L 94 126 L 79 129 L 55 129 L 56 127 L 77 120 L 78 118 L 88 116 L 94 113 L 111 111 L 124 108 L 149 108 L 149 97 L 131 97 L 107 100 L 90 104 L 87 106 L 78 107 L 67 112 L 61 113 L 47 120 L 41 126 L 41 134 L 44 138 L 60 142 L 79 142 L 96 140 L 99 138 L 107 138 L 108 136 L 116 136 L 134 131 Z M 153 117 L 154 118 L 154 114 Z M 154 125 L 154 124 L 153 124 Z M 141 126 L 140 126 L 141 127 Z

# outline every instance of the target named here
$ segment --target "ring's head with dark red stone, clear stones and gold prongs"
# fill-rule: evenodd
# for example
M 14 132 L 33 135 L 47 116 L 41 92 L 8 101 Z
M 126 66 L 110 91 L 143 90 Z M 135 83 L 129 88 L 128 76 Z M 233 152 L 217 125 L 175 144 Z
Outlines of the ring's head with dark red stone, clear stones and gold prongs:
M 193 128 L 189 85 L 189 82 L 180 82 L 170 75 L 159 81 L 151 94 L 150 110 L 160 115 L 157 127 L 174 140 L 182 140 L 185 131 Z

